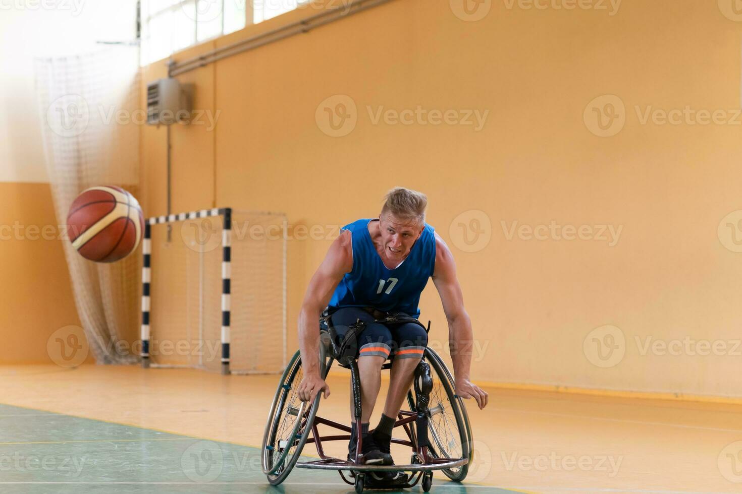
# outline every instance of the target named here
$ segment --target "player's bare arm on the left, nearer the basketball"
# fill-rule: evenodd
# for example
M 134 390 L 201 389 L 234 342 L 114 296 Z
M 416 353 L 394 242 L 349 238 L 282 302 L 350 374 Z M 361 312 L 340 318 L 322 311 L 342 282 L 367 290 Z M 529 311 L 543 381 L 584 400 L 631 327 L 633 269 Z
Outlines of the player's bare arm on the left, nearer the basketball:
M 318 270 L 306 287 L 306 295 L 299 312 L 299 350 L 304 377 L 297 393 L 302 401 L 309 401 L 324 390 L 324 397 L 329 396 L 329 386 L 324 382 L 319 369 L 320 327 L 319 318 L 322 310 L 332 298 L 345 273 L 352 270 L 351 234 L 343 230 L 332 242 Z

